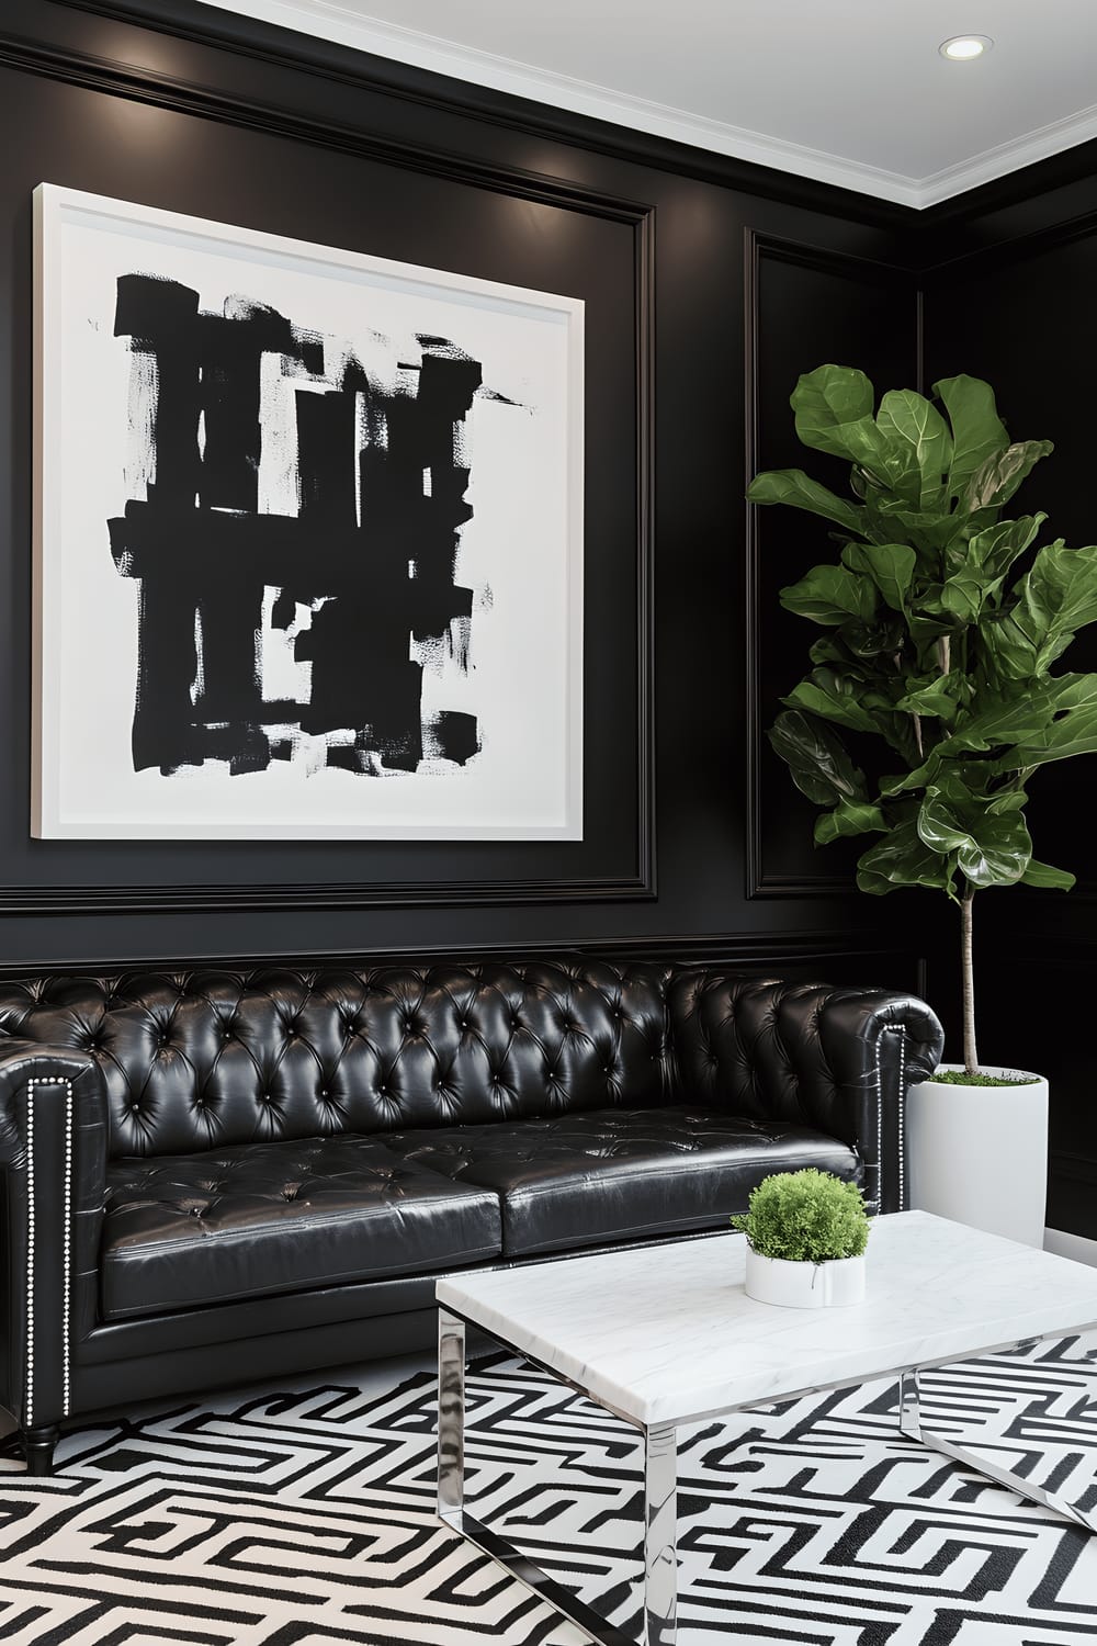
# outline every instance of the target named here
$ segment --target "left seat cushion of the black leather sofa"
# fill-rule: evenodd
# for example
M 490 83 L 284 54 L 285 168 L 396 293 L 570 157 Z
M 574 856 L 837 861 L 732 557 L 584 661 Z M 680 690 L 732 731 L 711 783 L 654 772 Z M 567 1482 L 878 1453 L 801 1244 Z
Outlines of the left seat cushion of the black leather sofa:
M 102 1314 L 125 1320 L 497 1258 L 498 1197 L 370 1137 L 115 1160 Z

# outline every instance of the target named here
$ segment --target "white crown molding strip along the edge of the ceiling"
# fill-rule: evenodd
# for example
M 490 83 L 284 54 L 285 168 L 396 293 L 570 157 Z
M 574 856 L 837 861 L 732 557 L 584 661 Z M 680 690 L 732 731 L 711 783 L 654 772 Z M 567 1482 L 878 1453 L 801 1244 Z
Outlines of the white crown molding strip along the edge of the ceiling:
M 237 12 L 263 23 L 294 30 L 299 35 L 331 40 L 354 51 L 391 58 L 451 79 L 488 86 L 515 97 L 569 109 L 572 114 L 589 115 L 594 120 L 650 132 L 653 137 L 663 137 L 674 143 L 729 155 L 734 160 L 747 160 L 757 166 L 771 166 L 776 171 L 811 178 L 816 183 L 831 183 L 835 188 L 870 194 L 898 206 L 911 206 L 916 211 L 952 199 L 980 183 L 990 183 L 1036 160 L 1046 160 L 1049 155 L 1058 155 L 1097 137 L 1097 105 L 1094 105 L 931 176 L 910 178 L 803 143 L 788 143 L 780 137 L 711 120 L 684 109 L 632 97 L 627 92 L 589 81 L 549 72 L 515 58 L 461 46 L 437 35 L 362 16 L 360 12 L 339 5 L 337 0 L 204 0 L 204 3 L 222 12 Z

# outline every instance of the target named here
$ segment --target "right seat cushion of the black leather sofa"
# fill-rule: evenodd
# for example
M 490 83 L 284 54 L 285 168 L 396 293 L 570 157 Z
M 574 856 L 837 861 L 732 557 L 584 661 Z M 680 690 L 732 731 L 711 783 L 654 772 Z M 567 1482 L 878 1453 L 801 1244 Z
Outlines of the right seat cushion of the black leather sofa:
M 385 1146 L 498 1193 L 508 1258 L 719 1228 L 770 1172 L 817 1165 L 860 1180 L 854 1149 L 785 1121 L 702 1108 L 390 1132 Z

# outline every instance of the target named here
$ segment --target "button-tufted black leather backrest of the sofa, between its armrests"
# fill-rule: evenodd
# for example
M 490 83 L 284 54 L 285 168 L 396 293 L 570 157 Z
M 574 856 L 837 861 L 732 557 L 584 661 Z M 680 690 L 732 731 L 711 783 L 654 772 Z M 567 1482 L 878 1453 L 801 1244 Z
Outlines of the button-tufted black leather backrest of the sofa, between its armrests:
M 0 1035 L 89 1050 L 112 1155 L 666 1101 L 656 963 L 133 971 L 0 984 Z

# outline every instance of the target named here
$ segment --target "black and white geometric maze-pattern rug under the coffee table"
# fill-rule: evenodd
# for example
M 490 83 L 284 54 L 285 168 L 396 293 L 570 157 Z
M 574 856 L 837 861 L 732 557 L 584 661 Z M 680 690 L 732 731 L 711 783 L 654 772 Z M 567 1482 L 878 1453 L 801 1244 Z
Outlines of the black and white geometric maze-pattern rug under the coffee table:
M 477 1516 L 635 1620 L 635 1432 L 503 1355 L 469 1393 Z M 1097 1504 L 1097 1340 L 934 1373 L 926 1414 Z M 429 1369 L 163 1402 L 59 1465 L 0 1455 L 5 1646 L 586 1641 L 436 1523 Z M 1097 1536 L 905 1440 L 895 1384 L 689 1430 L 679 1478 L 686 1646 L 1097 1646 Z

